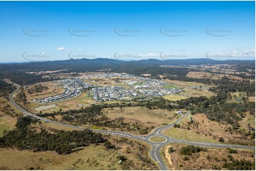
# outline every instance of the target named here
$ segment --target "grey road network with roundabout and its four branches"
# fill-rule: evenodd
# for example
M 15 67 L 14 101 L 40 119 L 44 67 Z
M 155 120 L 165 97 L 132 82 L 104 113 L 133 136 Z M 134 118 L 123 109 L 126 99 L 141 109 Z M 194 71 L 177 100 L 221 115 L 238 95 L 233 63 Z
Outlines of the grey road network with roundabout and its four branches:
M 21 111 L 24 114 L 24 116 L 29 116 L 29 117 L 32 117 L 35 119 L 43 120 L 45 122 L 49 122 L 52 124 L 59 124 L 59 125 L 71 127 L 74 129 L 86 129 L 82 126 L 73 126 L 73 125 L 69 125 L 69 124 L 55 122 L 50 119 L 39 117 L 31 112 L 24 110 L 22 107 L 20 107 L 18 104 L 16 104 L 16 102 L 13 100 L 13 95 L 19 90 L 19 88 L 21 88 L 21 86 L 19 86 L 16 83 L 13 83 L 13 84 L 17 88 L 16 88 L 16 90 L 13 91 L 13 93 L 11 93 L 9 95 L 10 102 L 14 105 L 14 107 L 16 107 L 16 109 Z M 90 129 L 90 130 L 94 131 L 94 132 L 101 133 L 101 134 L 111 134 L 113 136 L 135 138 L 139 141 L 144 141 L 145 143 L 150 144 L 150 146 L 152 146 L 152 148 L 149 152 L 150 158 L 152 158 L 152 160 L 157 164 L 157 166 L 160 168 L 160 170 L 168 170 L 167 165 L 165 164 L 164 160 L 162 160 L 162 157 L 160 155 L 161 148 L 164 147 L 165 145 L 167 145 L 167 143 L 185 143 L 185 144 L 190 144 L 190 145 L 194 145 L 194 146 L 204 146 L 204 147 L 208 147 L 208 148 L 243 148 L 243 149 L 254 149 L 255 150 L 255 147 L 250 147 L 250 146 L 238 146 L 238 145 L 231 145 L 231 144 L 188 141 L 188 140 L 172 138 L 172 137 L 165 136 L 162 134 L 162 131 L 164 131 L 165 129 L 172 128 L 174 126 L 174 124 L 178 124 L 180 121 L 182 121 L 182 119 L 184 119 L 184 117 L 187 117 L 189 114 L 190 114 L 190 112 L 187 112 L 187 114 L 181 115 L 179 117 L 179 119 L 177 119 L 177 121 L 173 122 L 172 124 L 157 127 L 154 131 L 152 131 L 152 133 L 145 135 L 145 136 L 137 136 L 137 135 L 129 134 L 127 132 L 123 132 L 123 131 L 108 131 L 108 130 L 99 130 L 99 129 Z M 161 136 L 162 138 L 165 138 L 166 141 L 164 141 L 162 143 L 155 143 L 155 142 L 150 141 L 151 136 Z

